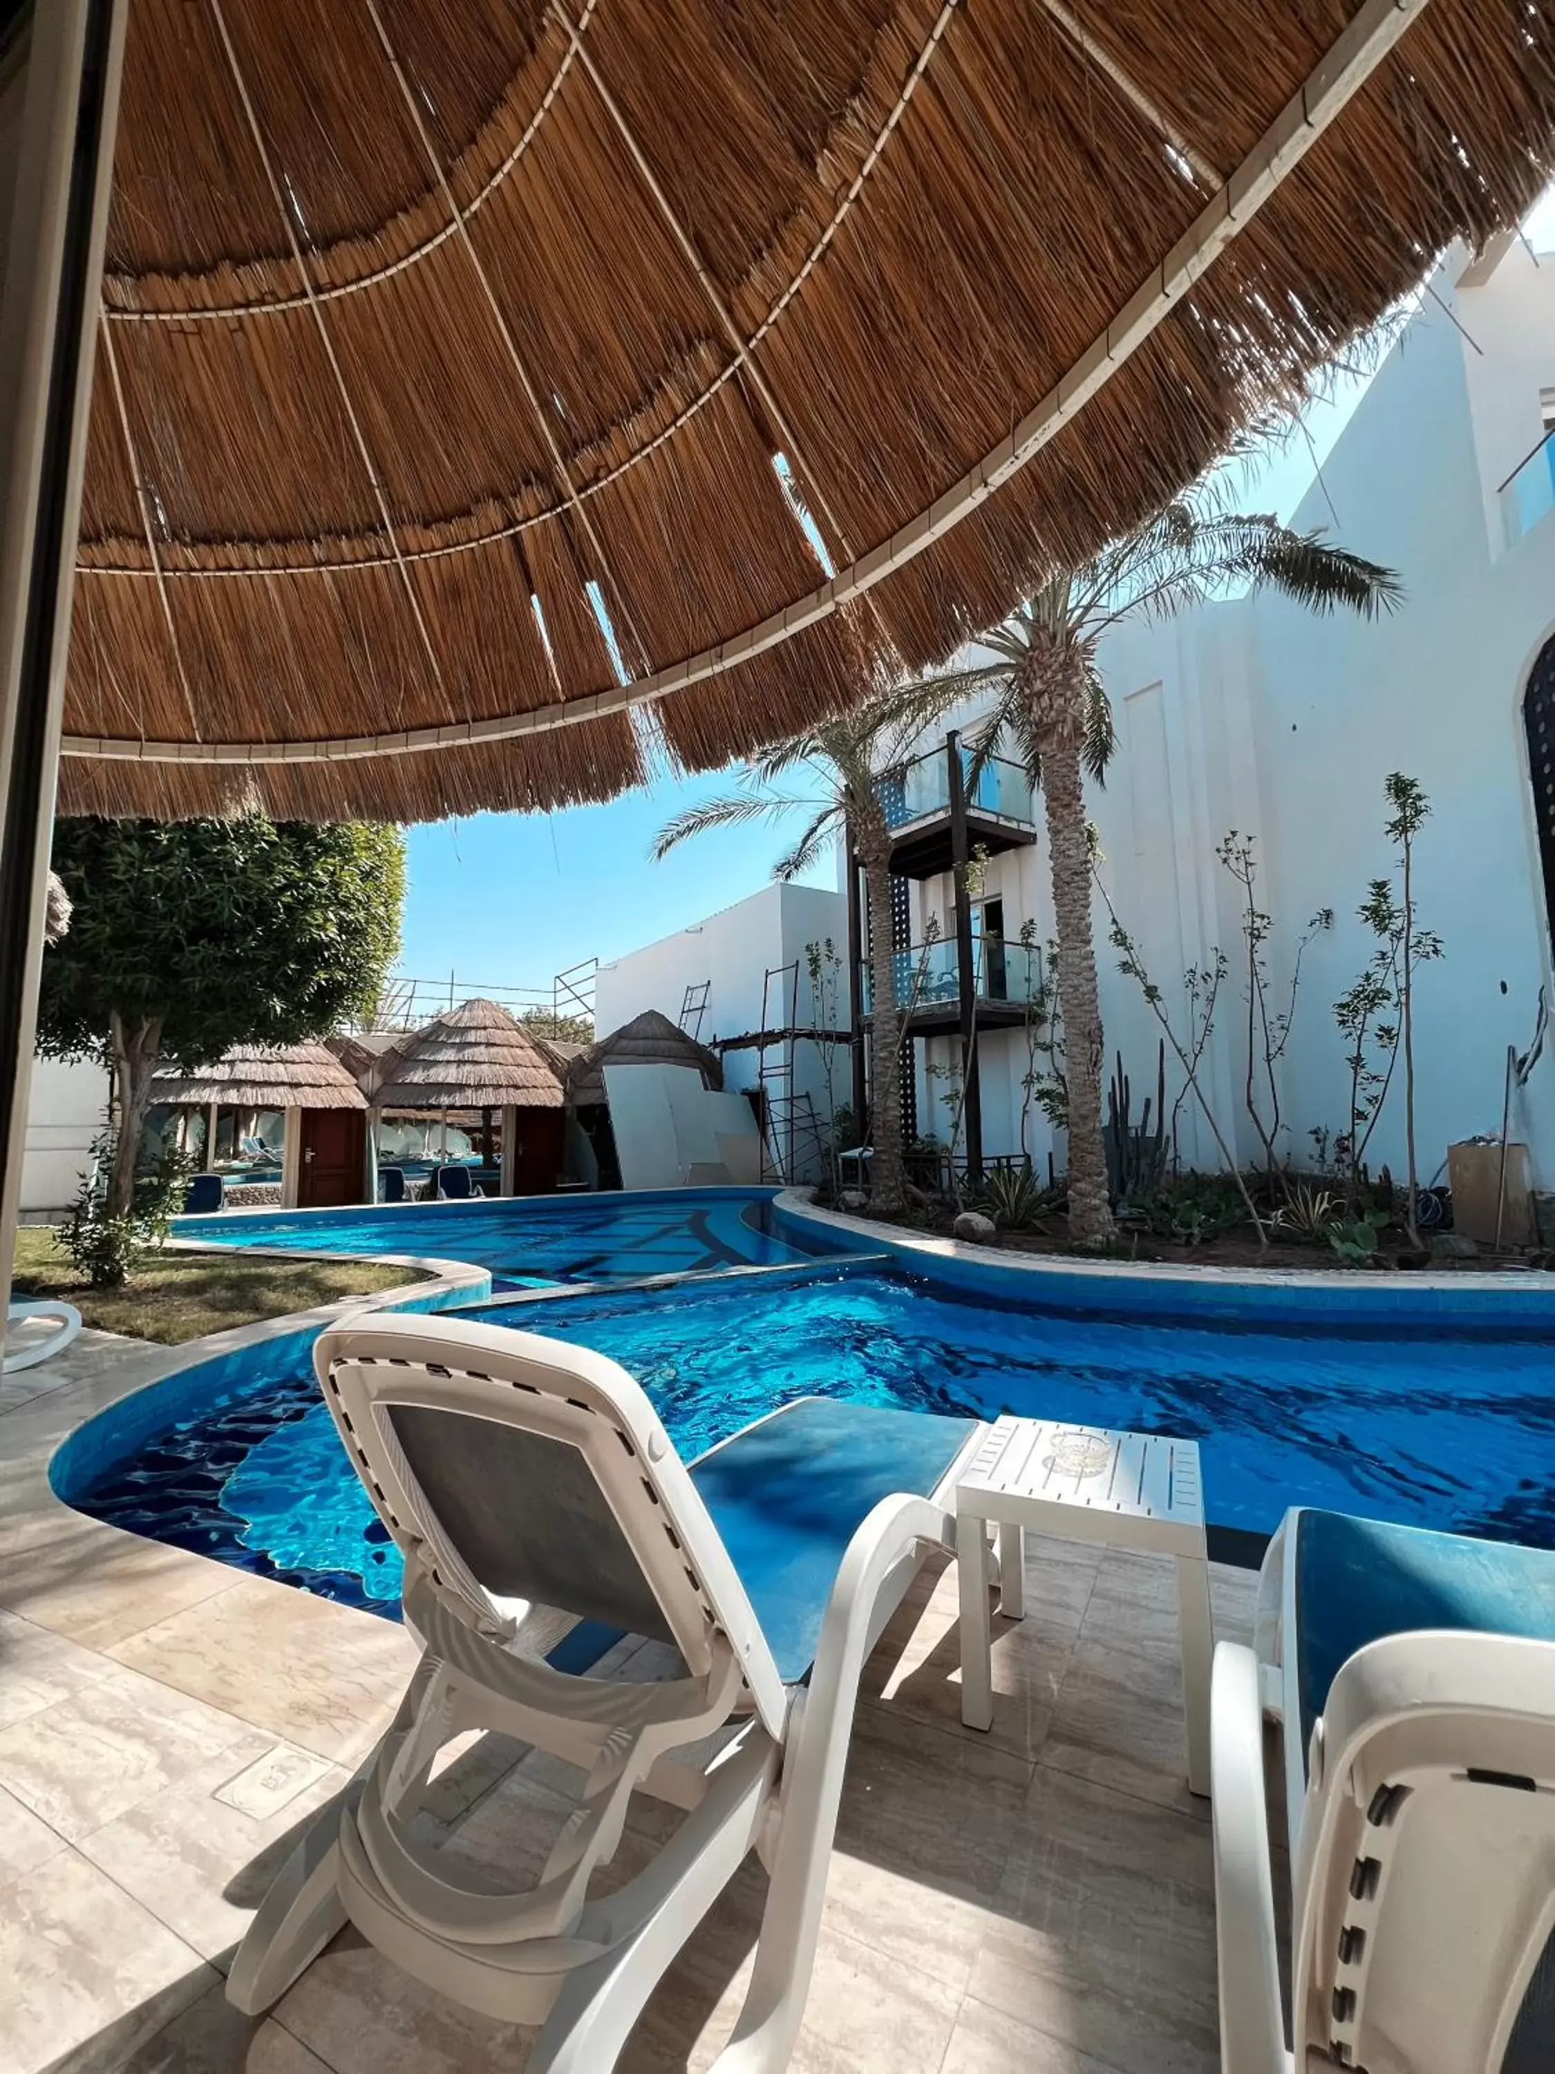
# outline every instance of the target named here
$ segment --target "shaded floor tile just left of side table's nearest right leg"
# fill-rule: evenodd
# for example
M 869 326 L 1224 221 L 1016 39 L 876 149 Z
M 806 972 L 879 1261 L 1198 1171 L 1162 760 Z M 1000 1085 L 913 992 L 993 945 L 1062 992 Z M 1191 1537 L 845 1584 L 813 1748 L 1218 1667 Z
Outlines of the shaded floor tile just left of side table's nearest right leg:
M 1209 1800 L 1188 1792 L 1182 1665 L 1174 1653 L 1084 1634 L 1064 1672 L 1039 1765 L 1209 1821 Z

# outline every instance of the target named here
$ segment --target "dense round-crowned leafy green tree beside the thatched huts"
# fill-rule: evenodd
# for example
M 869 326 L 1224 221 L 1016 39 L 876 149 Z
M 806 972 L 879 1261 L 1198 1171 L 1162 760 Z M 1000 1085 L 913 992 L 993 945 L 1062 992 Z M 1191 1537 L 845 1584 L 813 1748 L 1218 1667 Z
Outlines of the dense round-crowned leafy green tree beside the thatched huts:
M 323 1037 L 371 1008 L 400 944 L 396 828 L 66 819 L 54 869 L 73 913 L 44 956 L 39 1049 L 114 1074 L 108 1215 L 131 1211 L 162 1058 Z

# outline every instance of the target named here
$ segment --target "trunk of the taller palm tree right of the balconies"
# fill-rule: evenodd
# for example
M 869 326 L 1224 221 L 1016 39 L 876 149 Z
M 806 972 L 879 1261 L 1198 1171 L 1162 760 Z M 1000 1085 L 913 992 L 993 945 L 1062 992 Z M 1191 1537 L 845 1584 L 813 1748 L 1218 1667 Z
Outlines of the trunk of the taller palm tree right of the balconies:
M 1113 1236 L 1113 1222 L 1101 1145 L 1101 1000 L 1091 940 L 1091 838 L 1080 780 L 1084 674 L 1078 657 L 1035 649 L 1022 670 L 1022 689 L 1043 763 L 1053 875 L 1057 991 L 1064 1002 L 1070 1093 L 1070 1238 L 1082 1246 L 1099 1246 Z

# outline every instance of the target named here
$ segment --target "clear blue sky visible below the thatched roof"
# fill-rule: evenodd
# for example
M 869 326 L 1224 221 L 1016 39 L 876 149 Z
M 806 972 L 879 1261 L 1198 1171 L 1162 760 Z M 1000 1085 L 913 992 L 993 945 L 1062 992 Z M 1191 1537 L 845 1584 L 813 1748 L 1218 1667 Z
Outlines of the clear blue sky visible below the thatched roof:
M 1364 386 L 1335 382 L 1331 398 L 1308 411 L 1308 438 L 1294 438 L 1244 483 L 1244 510 L 1290 516 Z M 444 983 L 454 975 L 466 993 L 549 989 L 562 966 L 589 956 L 610 960 L 742 900 L 771 877 L 784 828 L 719 830 L 661 865 L 649 863 L 649 844 L 670 815 L 732 786 L 734 772 L 680 784 L 666 778 L 610 807 L 483 813 L 413 828 L 398 971 Z M 833 861 L 823 859 L 807 877 L 836 884 Z

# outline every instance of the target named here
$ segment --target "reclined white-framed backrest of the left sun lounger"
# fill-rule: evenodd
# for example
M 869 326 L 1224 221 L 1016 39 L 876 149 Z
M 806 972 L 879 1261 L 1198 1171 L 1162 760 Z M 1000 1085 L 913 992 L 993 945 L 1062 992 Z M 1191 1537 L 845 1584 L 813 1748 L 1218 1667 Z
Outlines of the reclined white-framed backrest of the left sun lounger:
M 695 1676 L 728 1636 L 778 1734 L 784 1686 L 744 1587 L 639 1383 L 603 1354 L 462 1319 L 377 1317 L 313 1363 L 379 1518 L 444 1603 L 504 1601 L 674 1643 Z

